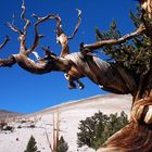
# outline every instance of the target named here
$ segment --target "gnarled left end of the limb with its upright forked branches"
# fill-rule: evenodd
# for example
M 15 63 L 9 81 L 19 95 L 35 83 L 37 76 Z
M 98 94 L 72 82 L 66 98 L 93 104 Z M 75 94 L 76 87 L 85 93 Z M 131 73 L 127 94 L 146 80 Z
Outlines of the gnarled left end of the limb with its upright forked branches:
M 68 61 L 60 59 L 53 54 L 42 58 L 40 61 L 35 62 L 31 60 L 28 54 L 35 51 L 36 47 L 39 43 L 39 39 L 42 37 L 42 35 L 38 35 L 38 25 L 51 17 L 54 17 L 53 14 L 43 17 L 38 18 L 38 22 L 35 24 L 35 40 L 31 48 L 26 49 L 26 36 L 27 36 L 27 28 L 30 24 L 30 21 L 25 17 L 26 8 L 24 5 L 24 1 L 22 4 L 22 20 L 25 22 L 25 25 L 23 27 L 23 31 L 20 30 L 14 25 L 8 23 L 8 26 L 20 34 L 18 41 L 20 41 L 20 53 L 11 55 L 11 59 L 1 59 L 0 65 L 1 66 L 11 66 L 14 63 L 17 63 L 22 68 L 24 68 L 27 72 L 30 72 L 33 74 L 46 74 L 51 71 L 66 71 L 68 68 Z

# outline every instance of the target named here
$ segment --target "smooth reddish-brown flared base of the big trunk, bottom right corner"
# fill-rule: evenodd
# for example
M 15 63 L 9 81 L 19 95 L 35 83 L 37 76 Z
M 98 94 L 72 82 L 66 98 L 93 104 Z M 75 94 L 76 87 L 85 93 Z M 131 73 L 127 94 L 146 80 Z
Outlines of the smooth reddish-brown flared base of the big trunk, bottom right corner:
M 130 123 L 113 135 L 97 152 L 150 152 L 152 130 L 145 125 Z

